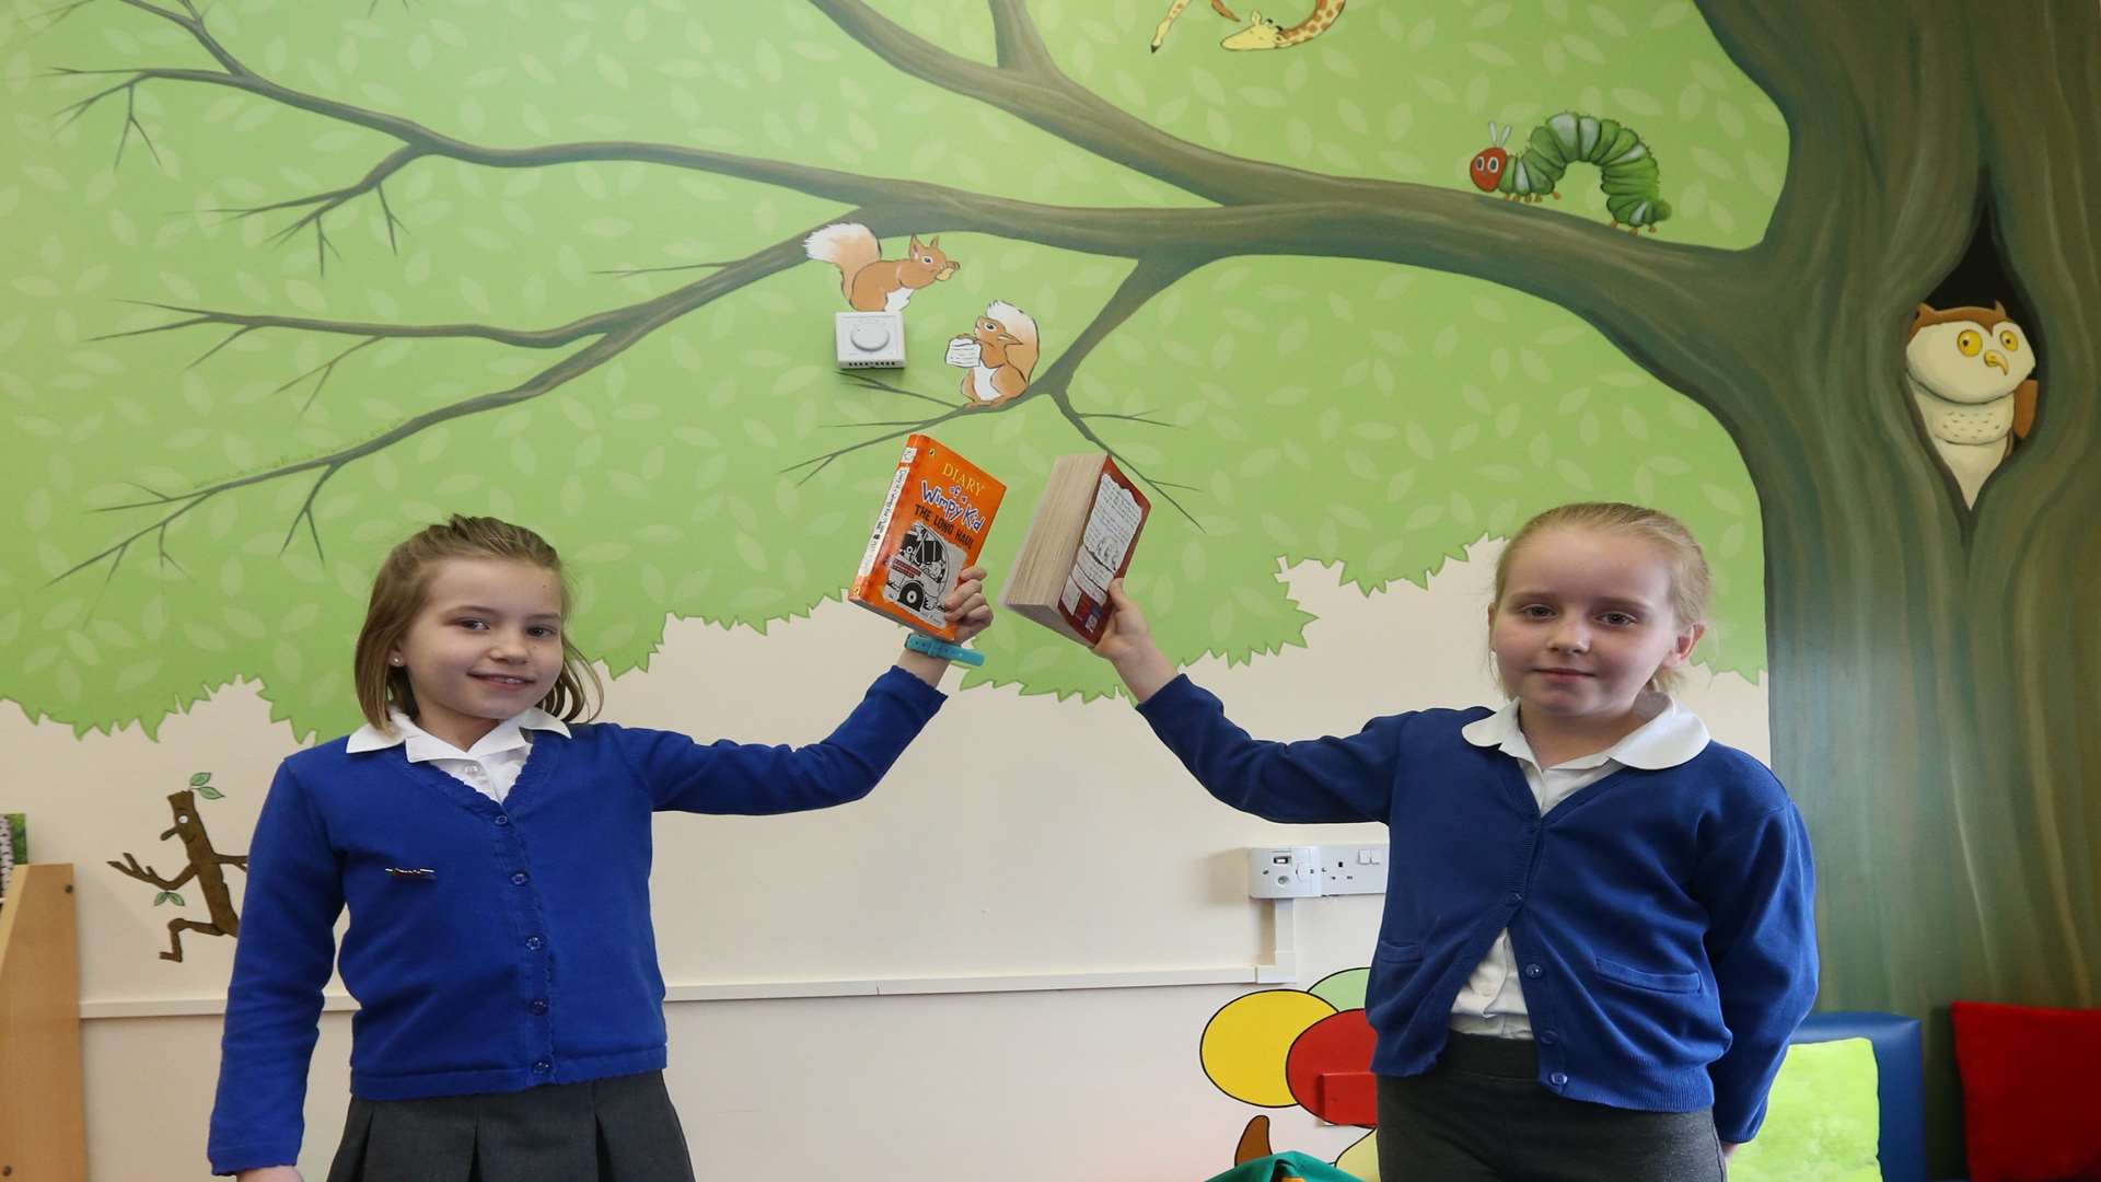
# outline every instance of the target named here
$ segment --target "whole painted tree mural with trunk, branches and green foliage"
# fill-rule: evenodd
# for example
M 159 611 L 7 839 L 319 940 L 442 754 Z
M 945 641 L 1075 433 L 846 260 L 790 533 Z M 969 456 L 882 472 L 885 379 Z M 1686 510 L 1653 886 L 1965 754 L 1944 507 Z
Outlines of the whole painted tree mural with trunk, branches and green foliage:
M 1824 1003 L 2095 1005 L 2101 625 L 2061 604 L 2101 576 L 2101 15 L 1357 4 L 1153 55 L 1114 8 L 17 2 L 0 694 L 151 730 L 254 677 L 345 730 L 372 562 L 454 509 L 546 528 L 630 669 L 666 612 L 834 597 L 912 429 L 1015 488 L 1116 452 L 1181 658 L 1296 644 L 1280 559 L 1370 591 L 1639 498 L 1719 559 L 1708 663 L 1771 677 Z M 1563 109 L 1641 130 L 1662 233 L 1607 229 L 1588 166 L 1559 204 L 1473 189 L 1490 120 Z M 916 358 L 1034 313 L 1027 393 L 836 376 L 800 250 L 836 221 L 962 263 Z M 2004 299 L 2042 362 L 1975 509 L 1901 387 L 1922 299 Z M 975 677 L 1109 688 L 1032 633 Z M 1952 1167 L 1946 1039 L 1935 1075 Z

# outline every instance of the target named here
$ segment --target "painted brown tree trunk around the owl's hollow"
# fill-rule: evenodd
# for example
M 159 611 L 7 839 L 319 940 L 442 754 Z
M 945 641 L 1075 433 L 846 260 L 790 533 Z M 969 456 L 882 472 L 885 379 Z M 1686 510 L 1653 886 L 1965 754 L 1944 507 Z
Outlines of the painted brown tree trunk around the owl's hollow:
M 1817 76 L 1773 53 L 1788 19 L 1763 8 L 1710 17 L 1794 130 L 1750 267 L 1771 311 L 1740 341 L 1771 349 L 1738 389 L 1687 393 L 1763 503 L 1773 763 L 1815 837 L 1819 1007 L 1927 1018 L 1929 1161 L 1950 1176 L 1948 1001 L 2101 1003 L 2101 19 L 1819 4 L 1794 38 L 1855 74 Z M 1983 212 L 2042 395 L 1973 511 L 1899 374 L 1914 305 Z

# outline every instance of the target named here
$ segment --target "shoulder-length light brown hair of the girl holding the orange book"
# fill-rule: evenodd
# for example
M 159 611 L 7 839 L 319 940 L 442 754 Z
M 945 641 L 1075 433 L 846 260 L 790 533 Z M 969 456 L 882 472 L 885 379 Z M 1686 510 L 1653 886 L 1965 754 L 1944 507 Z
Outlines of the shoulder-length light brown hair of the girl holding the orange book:
M 351 660 L 357 709 L 363 711 L 366 721 L 380 730 L 391 730 L 387 724 L 389 707 L 416 717 L 416 692 L 410 688 L 408 669 L 389 665 L 387 656 L 416 623 L 437 564 L 450 557 L 494 557 L 548 570 L 561 585 L 561 614 L 569 616 L 569 578 L 561 570 L 561 555 L 546 538 L 525 526 L 454 513 L 450 522 L 418 532 L 389 551 L 378 576 L 372 578 L 366 627 L 357 631 L 357 656 Z M 590 694 L 584 692 L 586 684 Z M 563 721 L 580 717 L 588 721 L 599 715 L 603 698 L 605 684 L 599 681 L 599 671 L 569 644 L 565 629 L 561 633 L 561 673 L 555 677 L 555 688 L 540 698 L 540 709 Z

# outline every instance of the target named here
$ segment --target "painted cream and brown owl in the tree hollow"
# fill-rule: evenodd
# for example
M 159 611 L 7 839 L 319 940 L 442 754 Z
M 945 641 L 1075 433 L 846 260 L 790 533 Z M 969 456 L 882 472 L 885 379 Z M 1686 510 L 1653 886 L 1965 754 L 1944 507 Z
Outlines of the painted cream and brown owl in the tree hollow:
M 2036 353 L 2006 309 L 1918 305 L 1904 345 L 1904 385 L 1964 505 L 2036 421 Z

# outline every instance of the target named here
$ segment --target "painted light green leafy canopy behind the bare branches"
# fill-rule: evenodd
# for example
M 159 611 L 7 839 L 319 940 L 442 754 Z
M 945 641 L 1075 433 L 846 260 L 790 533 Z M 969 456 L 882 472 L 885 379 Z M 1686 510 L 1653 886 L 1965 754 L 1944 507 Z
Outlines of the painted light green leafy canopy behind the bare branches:
M 994 59 L 981 2 L 876 8 L 903 34 Z M 13 440 L 0 501 L 17 507 L 0 541 L 0 696 L 76 730 L 151 734 L 233 679 L 258 681 L 300 736 L 353 728 L 347 665 L 376 562 L 450 511 L 546 532 L 580 585 L 571 631 L 616 673 L 647 665 L 668 616 L 754 629 L 805 616 L 853 574 L 897 454 L 887 435 L 943 414 L 929 398 L 960 404 L 943 341 L 990 301 L 1017 303 L 1042 326 L 1046 381 L 1132 278 L 1132 259 L 1046 246 L 1027 225 L 906 217 L 903 229 L 939 231 L 962 269 L 912 301 L 914 364 L 885 379 L 908 393 L 870 387 L 830 366 L 826 322 L 843 307 L 830 267 L 796 254 L 735 269 L 847 219 L 851 202 L 639 160 L 420 156 L 326 206 L 324 240 L 300 223 L 321 208 L 311 198 L 357 185 L 399 139 L 244 88 L 122 88 L 130 69 L 214 61 L 191 29 L 132 6 L 84 4 L 57 23 L 27 13 L 0 17 L 6 84 L 19 109 L 61 116 L 0 126 L 19 164 L 0 179 L 15 244 L 0 286 Z M 1466 160 L 1490 120 L 1521 137 L 1582 109 L 1628 122 L 1662 160 L 1677 206 L 1666 242 L 1744 248 L 1786 164 L 1777 114 L 1685 4 L 1351 4 L 1317 42 L 1254 55 L 1221 50 L 1229 27 L 1200 4 L 1158 55 L 1145 53 L 1160 17 L 1147 6 L 1044 0 L 1029 13 L 1057 67 L 1099 99 L 1170 137 L 1309 172 L 1471 191 Z M 910 78 L 805 6 L 256 2 L 204 21 L 288 90 L 490 149 L 637 141 L 1044 206 L 1206 206 Z M 111 86 L 65 122 L 67 103 Z M 1563 200 L 1532 212 L 1603 221 L 1595 170 L 1574 168 Z M 885 236 L 891 257 L 901 244 Z M 618 349 L 618 334 L 550 345 L 355 328 L 544 334 L 641 318 L 632 309 L 725 273 L 735 282 L 716 299 Z M 193 315 L 172 309 L 208 320 L 158 330 Z M 210 320 L 254 313 L 336 328 Z M 1250 254 L 1177 276 L 1103 324 L 1067 358 L 1063 402 L 1032 395 L 935 427 L 1013 488 L 994 572 L 1050 458 L 1093 446 L 1084 431 L 1149 482 L 1156 515 L 1130 585 L 1179 660 L 1301 644 L 1309 616 L 1282 566 L 1340 564 L 1366 593 L 1420 585 L 1542 507 L 1630 498 L 1681 513 L 1708 545 L 1708 660 L 1761 669 L 1759 513 L 1735 450 L 1574 313 L 1471 278 Z M 561 366 L 574 374 L 527 398 L 473 402 Z M 830 452 L 843 454 L 824 463 Z M 966 684 L 1114 692 L 1105 665 L 1021 620 L 981 646 L 990 663 Z

